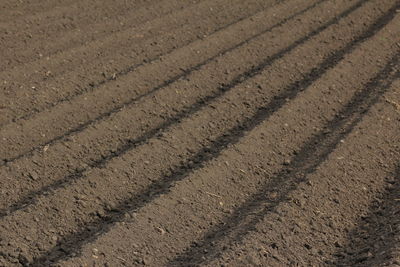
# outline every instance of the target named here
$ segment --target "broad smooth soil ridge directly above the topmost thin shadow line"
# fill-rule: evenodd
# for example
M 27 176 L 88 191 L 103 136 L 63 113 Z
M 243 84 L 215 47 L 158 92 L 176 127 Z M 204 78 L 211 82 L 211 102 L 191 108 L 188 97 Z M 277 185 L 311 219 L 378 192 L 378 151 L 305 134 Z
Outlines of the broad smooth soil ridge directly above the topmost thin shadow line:
M 168 14 L 153 18 L 143 25 L 52 57 L 44 56 L 36 63 L 2 73 L 4 90 L 1 97 L 1 125 L 12 120 L 26 119 L 38 111 L 71 100 L 73 95 L 94 90 L 93 87 L 102 84 L 100 81 L 104 83 L 114 80 L 117 75 L 132 71 L 143 61 L 159 58 L 160 55 L 199 39 L 200 35 L 213 33 L 215 29 L 210 29 L 210 25 L 229 26 L 260 9 L 257 4 L 259 0 L 250 1 L 246 8 L 240 8 L 235 0 L 231 9 L 224 9 L 224 1 L 211 2 L 203 1 L 179 11 L 171 11 L 170 8 L 174 6 L 168 5 Z M 213 10 L 210 11 L 210 8 Z M 154 7 L 154 10 L 137 12 L 157 16 L 159 9 Z M 141 19 L 140 16 L 134 18 L 139 21 Z M 217 26 L 216 31 L 219 28 Z M 59 41 L 68 46 L 65 40 Z

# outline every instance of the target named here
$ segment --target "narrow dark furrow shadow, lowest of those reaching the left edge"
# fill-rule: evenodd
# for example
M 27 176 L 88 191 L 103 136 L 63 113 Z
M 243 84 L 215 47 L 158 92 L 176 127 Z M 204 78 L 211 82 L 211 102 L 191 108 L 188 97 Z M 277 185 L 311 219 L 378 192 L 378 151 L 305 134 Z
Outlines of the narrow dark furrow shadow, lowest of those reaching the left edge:
M 356 8 L 358 8 L 359 6 L 362 5 L 362 3 L 364 3 L 365 0 L 362 0 L 360 2 L 358 2 L 355 6 L 353 6 L 350 10 L 353 11 Z M 153 138 L 154 136 L 156 136 L 158 133 L 160 133 L 161 131 L 165 131 L 166 129 L 168 129 L 169 127 L 178 124 L 182 119 L 187 118 L 189 116 L 191 116 L 192 114 L 196 113 L 197 111 L 199 111 L 200 109 L 202 109 L 203 107 L 207 106 L 209 103 L 211 103 L 212 101 L 215 101 L 216 99 L 222 97 L 226 92 L 232 90 L 235 86 L 239 85 L 240 83 L 260 74 L 262 72 L 263 69 L 265 69 L 267 66 L 273 64 L 274 61 L 282 58 L 286 53 L 290 52 L 291 50 L 293 50 L 294 48 L 296 48 L 297 46 L 303 44 L 304 42 L 306 42 L 307 40 L 309 40 L 311 37 L 317 35 L 318 33 L 320 33 L 321 31 L 325 30 L 327 27 L 329 27 L 330 25 L 336 23 L 340 18 L 347 16 L 348 14 L 350 14 L 351 12 L 349 10 L 346 10 L 344 13 L 342 13 L 342 15 L 340 17 L 334 18 L 332 20 L 330 20 L 328 23 L 326 23 L 325 25 L 321 26 L 320 28 L 318 28 L 317 30 L 311 32 L 309 35 L 297 40 L 295 43 L 293 43 L 292 45 L 290 45 L 289 47 L 281 50 L 280 52 L 278 52 L 277 54 L 268 57 L 267 59 L 264 60 L 264 62 L 262 62 L 260 65 L 254 67 L 253 69 L 238 75 L 235 79 L 233 79 L 231 81 L 231 83 L 222 86 L 219 88 L 219 91 L 216 91 L 213 95 L 209 95 L 203 99 L 200 99 L 198 102 L 196 102 L 195 104 L 193 104 L 190 108 L 185 109 L 183 111 L 181 111 L 180 113 L 178 113 L 176 116 L 166 120 L 164 123 L 160 124 L 158 127 L 146 132 L 145 134 L 143 134 L 142 136 L 134 139 L 134 140 L 128 140 L 127 143 L 123 144 L 121 147 L 119 147 L 116 152 L 114 153 L 110 153 L 109 155 L 94 161 L 93 163 L 89 164 L 88 168 L 85 169 L 80 169 L 77 170 L 76 172 L 64 177 L 63 179 L 57 180 L 47 186 L 42 187 L 39 190 L 36 191 L 32 191 L 28 194 L 26 194 L 24 197 L 22 197 L 19 201 L 17 201 L 16 203 L 10 205 L 10 207 L 6 208 L 6 209 L 0 209 L 0 218 L 9 215 L 10 213 L 13 213 L 17 210 L 20 210 L 22 208 L 24 208 L 27 205 L 32 205 L 36 202 L 37 198 L 47 194 L 51 191 L 57 190 L 58 188 L 61 187 L 65 187 L 69 184 L 71 184 L 72 182 L 80 179 L 83 176 L 83 173 L 85 171 L 87 171 L 90 168 L 98 168 L 98 167 L 102 167 L 104 166 L 108 161 L 110 161 L 111 159 L 114 159 L 116 157 L 122 156 L 124 154 L 126 154 L 127 152 L 129 152 L 130 150 L 138 147 L 139 145 L 142 145 L 144 143 L 146 143 L 150 138 Z M 375 24 L 374 24 L 375 25 Z M 371 26 L 369 29 L 367 29 L 365 34 L 368 34 L 371 32 L 371 29 L 373 29 L 374 26 Z M 373 32 L 371 32 L 370 34 L 373 34 Z M 349 45 L 355 45 L 357 43 L 357 40 L 359 40 L 358 42 L 361 42 L 362 39 L 367 38 L 367 37 L 362 37 L 360 36 L 358 39 L 353 40 L 352 43 L 350 43 Z M 349 46 L 348 45 L 348 46 Z M 344 48 L 346 49 L 346 48 Z M 343 50 L 343 49 L 342 49 Z M 333 56 L 331 56 L 330 58 L 328 58 L 327 60 L 324 61 L 324 63 L 322 63 L 317 69 L 315 70 L 319 70 L 319 73 L 322 74 L 324 69 L 327 67 L 326 65 L 332 61 L 332 58 L 335 57 L 336 54 L 333 54 Z M 334 62 L 330 63 L 335 64 Z M 309 77 L 308 80 L 311 83 L 313 81 L 313 79 L 311 78 L 312 76 L 316 75 L 316 71 L 313 70 L 312 72 L 308 73 L 306 75 L 306 77 Z M 305 83 L 305 80 L 303 80 L 303 82 Z M 304 86 L 307 86 L 308 84 L 304 84 Z M 293 91 L 294 87 L 296 85 L 292 86 L 292 89 L 286 89 L 284 90 L 283 96 L 281 97 L 281 99 L 278 99 L 279 96 L 276 99 L 276 102 L 273 102 L 272 105 L 282 105 L 284 103 L 284 99 L 288 98 L 288 96 L 286 96 L 286 94 L 289 93 L 289 91 Z M 239 126 L 242 127 L 242 126 Z

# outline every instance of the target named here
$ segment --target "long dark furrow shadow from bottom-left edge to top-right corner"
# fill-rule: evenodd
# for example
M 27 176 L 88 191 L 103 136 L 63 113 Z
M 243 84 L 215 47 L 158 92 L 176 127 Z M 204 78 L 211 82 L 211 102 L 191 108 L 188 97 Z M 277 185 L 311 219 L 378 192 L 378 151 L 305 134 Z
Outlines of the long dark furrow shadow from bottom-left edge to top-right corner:
M 353 8 L 352 8 L 353 9 Z M 349 12 L 346 11 L 346 14 Z M 277 111 L 284 103 L 286 103 L 287 99 L 294 98 L 296 95 L 307 88 L 310 84 L 312 84 L 315 80 L 322 76 L 323 73 L 326 72 L 327 69 L 333 68 L 336 63 L 341 60 L 345 54 L 350 53 L 357 44 L 372 36 L 376 31 L 386 25 L 396 13 L 396 6 L 393 7 L 386 15 L 381 17 L 374 25 L 372 25 L 368 31 L 364 34 L 359 36 L 356 40 L 349 43 L 345 48 L 337 51 L 335 54 L 330 56 L 327 60 L 323 62 L 318 68 L 311 71 L 306 78 L 303 80 L 296 82 L 289 86 L 285 91 L 283 91 L 280 95 L 276 96 L 274 100 L 270 103 L 266 104 L 264 107 L 260 108 L 256 114 L 241 123 L 240 125 L 232 128 L 231 130 L 225 132 L 223 135 L 218 137 L 214 140 L 210 146 L 202 149 L 196 155 L 194 155 L 191 159 L 187 160 L 184 165 L 176 167 L 175 171 L 162 179 L 159 179 L 145 188 L 143 191 L 139 192 L 132 196 L 132 198 L 127 199 L 126 201 L 122 202 L 119 206 L 114 207 L 111 211 L 107 211 L 106 215 L 102 218 L 94 220 L 90 223 L 87 223 L 82 230 L 75 232 L 71 235 L 65 236 L 60 240 L 58 245 L 50 249 L 49 251 L 45 252 L 41 257 L 35 259 L 33 262 L 33 266 L 42 266 L 48 262 L 57 262 L 62 259 L 68 258 L 71 253 L 79 253 L 82 246 L 87 243 L 94 241 L 99 235 L 104 234 L 110 230 L 110 228 L 118 221 L 123 220 L 124 215 L 127 212 L 135 211 L 158 196 L 168 193 L 169 188 L 173 185 L 173 183 L 185 179 L 188 175 L 190 175 L 193 171 L 202 168 L 207 162 L 210 160 L 218 157 L 218 155 L 228 146 L 231 144 L 237 143 L 241 137 L 245 135 L 247 131 L 254 129 L 257 125 L 261 122 L 265 121 L 269 116 L 271 116 L 275 111 Z M 338 20 L 339 18 L 335 19 Z M 325 27 L 325 26 L 323 26 Z M 316 33 L 314 33 L 316 34 Z M 398 58 L 396 57 L 396 61 Z M 371 84 L 367 86 L 370 91 L 374 92 L 374 88 L 380 78 L 384 78 L 386 72 L 389 71 L 391 65 L 388 65 L 385 70 L 377 77 Z M 261 69 L 259 69 L 261 70 Z M 357 105 L 358 102 L 364 104 L 365 101 L 362 101 L 364 98 L 368 96 L 366 92 L 368 89 L 363 91 L 357 95 L 355 100 L 353 101 L 353 105 Z M 378 95 L 378 94 L 376 94 Z M 374 98 L 375 100 L 375 98 Z M 373 103 L 373 100 L 370 101 Z M 360 104 L 359 104 L 360 105 Z M 372 105 L 372 104 L 370 104 Z M 354 109 L 348 107 L 348 113 L 354 112 Z M 346 113 L 347 114 L 347 113 Z M 345 113 L 342 115 L 345 116 Z M 339 124 L 341 125 L 342 120 L 344 118 L 340 117 L 333 121 L 328 127 L 335 129 L 335 127 Z M 328 136 L 334 136 L 333 134 Z M 324 140 L 326 136 L 320 136 L 319 139 L 322 139 L 321 142 Z M 335 139 L 336 140 L 336 139 Z M 314 142 L 318 141 L 315 139 Z M 306 147 L 305 149 L 311 150 L 312 146 L 315 145 L 314 143 L 310 144 L 310 147 Z M 324 146 L 325 147 L 325 146 Z M 319 153 L 323 154 L 323 153 Z M 302 153 L 299 154 L 298 157 L 306 158 L 307 153 L 304 155 Z M 298 162 L 299 161 L 299 162 Z M 301 164 L 300 158 L 295 160 L 297 164 Z M 293 168 L 296 166 L 292 166 Z M 300 168 L 299 166 L 298 168 Z

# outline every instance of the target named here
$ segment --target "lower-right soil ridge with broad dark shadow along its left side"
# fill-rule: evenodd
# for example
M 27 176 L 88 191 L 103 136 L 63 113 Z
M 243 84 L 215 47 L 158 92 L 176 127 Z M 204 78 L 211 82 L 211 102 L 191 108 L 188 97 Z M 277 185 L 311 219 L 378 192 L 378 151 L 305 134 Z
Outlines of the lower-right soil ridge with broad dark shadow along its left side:
M 345 168 L 341 162 L 344 158 L 348 159 L 350 168 L 353 169 L 352 173 L 355 172 L 354 169 L 359 171 L 365 165 L 362 159 L 354 155 L 349 155 L 349 152 L 362 151 L 360 147 L 365 149 L 366 142 L 362 141 L 362 144 L 360 144 L 359 140 L 358 142 L 350 142 L 350 140 L 347 140 L 347 136 L 356 135 L 359 139 L 368 136 L 365 132 L 362 134 L 359 132 L 354 134 L 354 132 L 357 132 L 360 128 L 362 129 L 363 126 L 357 127 L 357 125 L 366 117 L 365 114 L 376 102 L 380 102 L 380 106 L 384 104 L 384 97 L 382 95 L 387 90 L 394 90 L 396 83 L 394 86 L 391 86 L 391 84 L 394 79 L 400 78 L 399 56 L 391 61 L 391 63 L 368 83 L 365 89 L 358 91 L 349 103 L 339 111 L 336 118 L 329 122 L 319 134 L 315 135 L 302 147 L 285 169 L 274 174 L 270 180 L 260 185 L 261 190 L 259 192 L 252 195 L 251 198 L 237 208 L 221 225 L 205 233 L 204 238 L 196 241 L 197 246 L 193 246 L 187 252 L 178 256 L 170 265 L 189 266 L 190 263 L 196 263 L 194 264 L 196 266 L 219 266 L 222 262 L 233 266 L 246 265 L 251 262 L 259 262 L 258 264 L 267 266 L 274 264 L 290 265 L 294 262 L 304 266 L 330 264 L 329 257 L 335 253 L 335 248 L 343 242 L 343 236 L 339 238 L 338 233 L 334 233 L 334 230 L 337 229 L 334 229 L 333 226 L 335 223 L 339 224 L 341 219 L 333 212 L 330 212 L 328 215 L 323 210 L 334 210 L 337 212 L 340 209 L 345 213 L 342 206 L 338 207 L 338 202 L 342 198 L 335 198 L 335 193 L 331 194 L 329 191 L 333 187 L 336 187 L 338 191 L 342 191 L 344 186 L 346 186 L 343 184 L 341 185 L 342 187 L 338 186 L 346 178 L 343 176 L 340 178 L 340 175 L 334 173 L 332 170 L 336 169 L 339 170 L 337 171 L 338 173 L 343 173 Z M 377 107 L 374 109 L 376 110 Z M 365 120 L 371 121 L 370 118 L 366 118 Z M 377 118 L 374 117 L 372 121 L 374 120 L 376 121 Z M 363 124 L 365 125 L 365 122 Z M 391 130 L 395 131 L 396 128 Z M 395 138 L 392 144 L 396 143 L 396 139 L 399 140 L 393 134 L 389 135 L 389 137 Z M 381 146 L 372 149 L 369 147 L 367 149 L 368 157 L 375 157 L 375 160 L 377 160 L 376 151 L 382 151 L 386 157 L 390 156 L 390 153 L 387 153 L 387 151 L 394 151 L 394 147 L 390 148 L 390 144 L 387 141 L 380 140 L 380 142 L 382 141 L 386 145 L 389 145 L 389 148 L 385 147 L 386 149 L 384 149 Z M 342 146 L 346 146 L 345 143 L 354 144 L 355 147 L 358 147 L 358 150 L 354 148 L 350 150 L 348 147 L 345 147 L 345 150 L 348 150 L 347 154 L 343 151 L 336 151 L 338 150 L 337 147 L 340 147 L 341 144 L 344 144 Z M 374 145 L 376 146 L 376 144 Z M 397 150 L 396 153 L 399 154 L 400 150 Z M 364 158 L 365 154 L 357 156 Z M 334 161 L 333 164 L 332 161 Z M 378 177 L 381 179 L 387 174 L 387 169 L 393 169 L 395 163 L 395 158 L 393 158 L 390 164 L 391 167 L 381 168 L 381 166 L 371 165 L 370 168 L 375 168 L 375 172 L 379 173 Z M 357 164 L 361 164 L 361 166 Z M 324 168 L 326 170 L 322 170 Z M 363 171 L 367 172 L 370 169 Z M 348 177 L 350 175 L 349 172 L 345 176 Z M 365 174 L 359 173 L 357 176 L 351 176 L 359 178 L 359 180 L 354 179 L 354 181 L 359 182 L 362 179 L 362 175 Z M 322 187 L 315 183 L 316 179 L 320 179 L 321 177 L 326 179 L 324 184 L 326 185 L 327 182 L 329 186 Z M 339 179 L 339 182 L 337 179 Z M 305 190 L 304 186 L 308 187 L 307 190 Z M 318 193 L 315 193 L 315 191 L 318 191 Z M 363 189 L 363 193 L 375 193 L 371 191 L 373 190 Z M 351 194 L 354 192 L 357 191 L 352 190 Z M 321 196 L 325 196 L 324 199 L 326 199 L 327 203 L 317 203 L 313 200 L 313 198 L 318 199 Z M 288 200 L 290 201 L 289 204 L 287 204 Z M 344 201 L 347 200 L 345 199 Z M 312 205 L 309 206 L 308 203 L 310 202 Z M 328 206 L 324 206 L 325 204 L 331 207 L 328 208 Z M 332 208 L 332 206 L 334 207 Z M 358 210 L 359 206 L 356 203 L 346 203 L 345 206 L 348 207 L 346 212 L 349 213 L 349 210 L 351 210 L 352 215 L 355 217 L 355 210 Z M 286 212 L 286 210 L 291 211 Z M 328 229 L 319 229 L 319 233 L 312 233 L 313 230 L 315 231 L 314 227 L 316 227 L 316 224 L 321 222 L 311 222 L 312 218 L 316 216 L 326 224 L 324 227 Z M 348 216 L 348 214 L 345 216 Z M 277 217 L 280 217 L 280 219 L 274 225 Z M 297 234 L 293 234 L 293 229 L 296 232 L 306 229 L 308 231 L 306 234 L 307 239 L 297 237 Z M 281 238 L 282 236 L 284 238 Z M 289 240 L 290 244 L 288 243 Z M 334 245 L 335 242 L 336 245 Z M 266 246 L 266 244 L 269 245 Z M 210 251 L 206 257 L 204 257 L 205 250 Z M 283 251 L 285 252 L 282 253 Z M 287 254 L 288 251 L 290 253 Z M 283 254 L 290 256 L 283 257 Z M 306 254 L 309 257 L 304 259 L 303 256 Z M 339 264 L 335 266 L 346 265 Z

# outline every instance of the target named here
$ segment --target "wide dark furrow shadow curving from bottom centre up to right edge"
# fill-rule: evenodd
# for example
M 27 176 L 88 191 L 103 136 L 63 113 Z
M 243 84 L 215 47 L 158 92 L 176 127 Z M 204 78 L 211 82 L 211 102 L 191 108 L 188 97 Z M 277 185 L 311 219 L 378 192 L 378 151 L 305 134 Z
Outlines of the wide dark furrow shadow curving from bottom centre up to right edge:
M 186 252 L 167 265 L 197 266 L 208 263 L 220 256 L 233 242 L 240 242 L 246 234 L 256 231 L 255 226 L 269 213 L 274 212 L 280 203 L 286 201 L 287 195 L 295 190 L 299 183 L 307 180 L 307 175 L 314 172 L 328 158 L 340 140 L 353 130 L 390 84 L 400 77 L 400 71 L 393 71 L 393 66 L 398 63 L 399 55 L 392 59 L 364 90 L 355 94 L 334 120 L 300 149 L 289 166 L 265 181 L 262 189 L 236 209 L 221 225 L 212 228 L 201 240 L 194 242 Z M 204 251 L 208 253 L 205 254 Z

